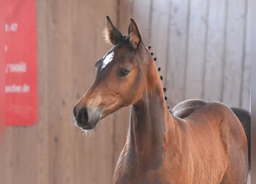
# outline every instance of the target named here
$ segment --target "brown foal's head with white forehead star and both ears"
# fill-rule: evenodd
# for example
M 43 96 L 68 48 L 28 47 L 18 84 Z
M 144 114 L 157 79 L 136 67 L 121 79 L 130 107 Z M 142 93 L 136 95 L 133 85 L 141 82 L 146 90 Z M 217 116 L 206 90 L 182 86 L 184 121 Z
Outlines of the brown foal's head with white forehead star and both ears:
M 113 47 L 95 62 L 94 82 L 73 110 L 82 129 L 93 129 L 102 118 L 136 104 L 159 84 L 154 60 L 132 18 L 128 36 L 123 36 L 107 16 L 104 35 Z

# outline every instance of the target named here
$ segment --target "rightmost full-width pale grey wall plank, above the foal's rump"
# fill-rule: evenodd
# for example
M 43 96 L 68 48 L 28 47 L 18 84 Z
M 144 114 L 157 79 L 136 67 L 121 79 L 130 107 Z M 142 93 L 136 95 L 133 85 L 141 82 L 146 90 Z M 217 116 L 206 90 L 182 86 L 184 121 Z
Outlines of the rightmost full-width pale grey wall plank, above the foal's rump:
M 243 0 L 228 1 L 223 102 L 229 106 L 239 106 L 242 79 L 244 6 L 245 1 Z

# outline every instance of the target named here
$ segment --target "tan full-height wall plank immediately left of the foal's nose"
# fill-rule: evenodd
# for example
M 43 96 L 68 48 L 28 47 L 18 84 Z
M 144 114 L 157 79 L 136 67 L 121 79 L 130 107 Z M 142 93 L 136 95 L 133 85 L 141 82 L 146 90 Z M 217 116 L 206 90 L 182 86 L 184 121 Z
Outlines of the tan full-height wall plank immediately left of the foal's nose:
M 73 35 L 74 18 L 73 13 L 74 6 L 73 1 L 58 1 L 56 6 L 58 7 L 56 13 L 56 31 L 58 37 L 56 41 L 60 45 L 57 51 L 58 70 L 59 70 L 59 91 L 58 91 L 58 104 L 60 108 L 59 122 L 52 122 L 55 124 L 55 132 L 52 134 L 54 147 L 57 145 L 57 152 L 55 157 L 56 168 L 58 173 L 56 176 L 57 183 L 77 183 L 77 177 L 75 177 L 75 162 L 74 162 L 74 125 L 72 123 L 72 66 L 73 55 Z M 55 53 L 56 54 L 56 53 Z M 58 135 L 58 137 L 55 137 Z M 68 135 L 68 136 L 67 136 Z

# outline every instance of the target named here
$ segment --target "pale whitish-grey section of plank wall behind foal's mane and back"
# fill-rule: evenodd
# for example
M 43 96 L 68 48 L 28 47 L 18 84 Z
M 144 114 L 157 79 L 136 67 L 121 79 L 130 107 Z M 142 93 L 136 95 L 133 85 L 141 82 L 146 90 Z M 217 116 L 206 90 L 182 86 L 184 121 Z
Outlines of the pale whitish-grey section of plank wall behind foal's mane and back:
M 201 98 L 249 109 L 249 1 L 132 1 L 144 43 L 165 69 L 170 106 Z

